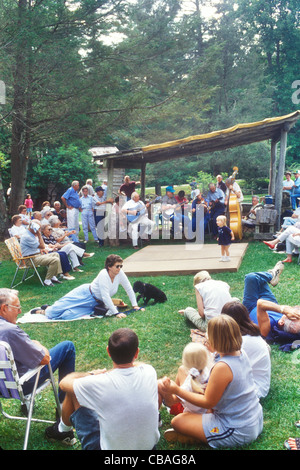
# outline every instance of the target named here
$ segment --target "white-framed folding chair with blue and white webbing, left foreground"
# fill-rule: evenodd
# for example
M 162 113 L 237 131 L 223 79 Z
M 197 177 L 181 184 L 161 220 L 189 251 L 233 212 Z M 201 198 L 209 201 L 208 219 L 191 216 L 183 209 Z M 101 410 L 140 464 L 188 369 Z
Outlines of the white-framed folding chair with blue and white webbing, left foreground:
M 40 372 L 43 367 L 49 368 L 50 378 L 46 380 L 40 387 L 38 387 Z M 29 395 L 24 395 L 23 385 L 32 377 L 35 377 L 32 393 Z M 6 418 L 27 421 L 23 450 L 27 449 L 30 425 L 32 421 L 50 424 L 55 422 L 45 419 L 32 418 L 35 396 L 50 384 L 52 385 L 58 415 L 61 416 L 61 405 L 58 399 L 58 393 L 55 386 L 51 364 L 49 363 L 46 366 L 38 366 L 35 369 L 26 372 L 24 375 L 22 375 L 22 377 L 19 377 L 11 347 L 5 341 L 0 341 L 0 411 Z M 27 416 L 11 416 L 7 414 L 3 410 L 1 403 L 4 399 L 20 400 L 21 403 L 26 406 Z

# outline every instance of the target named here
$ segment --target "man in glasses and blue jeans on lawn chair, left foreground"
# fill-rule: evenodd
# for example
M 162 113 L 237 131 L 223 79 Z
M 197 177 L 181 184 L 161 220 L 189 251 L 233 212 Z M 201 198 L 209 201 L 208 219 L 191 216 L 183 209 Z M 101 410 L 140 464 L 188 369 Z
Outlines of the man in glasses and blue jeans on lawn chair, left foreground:
M 30 339 L 27 333 L 16 325 L 17 316 L 21 313 L 19 293 L 16 290 L 0 289 L 0 340 L 6 341 L 12 348 L 17 371 L 22 377 L 28 370 L 50 362 L 53 372 L 58 370 L 59 381 L 65 375 L 75 370 L 75 347 L 71 341 L 63 341 L 48 350 L 36 340 Z M 48 367 L 43 367 L 40 372 L 39 385 L 49 378 Z M 27 382 L 23 389 L 25 394 L 33 390 L 34 380 Z M 59 387 L 58 396 L 60 403 L 65 398 L 65 392 Z M 74 433 L 69 430 L 60 435 L 61 442 L 73 445 L 76 442 Z

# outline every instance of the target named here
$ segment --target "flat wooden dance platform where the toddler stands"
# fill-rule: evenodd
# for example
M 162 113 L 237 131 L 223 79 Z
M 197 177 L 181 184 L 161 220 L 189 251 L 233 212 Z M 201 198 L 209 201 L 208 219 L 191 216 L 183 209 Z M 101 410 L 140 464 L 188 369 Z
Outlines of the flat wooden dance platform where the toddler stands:
M 221 262 L 221 249 L 217 244 L 148 245 L 123 262 L 127 276 L 161 276 L 236 272 L 246 253 L 248 243 L 233 243 L 230 261 Z

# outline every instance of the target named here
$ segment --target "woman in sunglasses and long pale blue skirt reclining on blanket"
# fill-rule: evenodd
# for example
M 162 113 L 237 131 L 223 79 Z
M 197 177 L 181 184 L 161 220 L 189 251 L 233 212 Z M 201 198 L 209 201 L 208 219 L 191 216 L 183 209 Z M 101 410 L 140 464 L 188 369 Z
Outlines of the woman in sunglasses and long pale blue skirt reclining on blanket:
M 47 305 L 44 309 L 37 310 L 34 313 L 40 313 L 55 320 L 74 320 L 85 315 L 91 315 L 95 307 L 100 306 L 103 307 L 100 316 L 116 315 L 117 318 L 125 318 L 126 314 L 119 313 L 118 308 L 112 301 L 112 297 L 117 293 L 120 285 L 125 289 L 133 309 L 139 310 L 140 308 L 131 284 L 121 269 L 122 263 L 123 260 L 120 256 L 109 255 L 105 261 L 105 268 L 100 271 L 91 283 L 76 287 L 54 302 L 53 305 Z

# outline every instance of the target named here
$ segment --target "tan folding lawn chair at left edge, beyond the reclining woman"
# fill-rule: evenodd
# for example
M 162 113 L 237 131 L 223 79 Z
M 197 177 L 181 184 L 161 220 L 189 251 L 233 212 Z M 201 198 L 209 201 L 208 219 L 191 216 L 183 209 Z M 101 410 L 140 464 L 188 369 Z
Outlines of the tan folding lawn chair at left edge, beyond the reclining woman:
M 15 271 L 13 280 L 11 282 L 10 288 L 12 289 L 12 288 L 18 286 L 19 284 L 22 284 L 22 282 L 27 281 L 27 279 L 30 279 L 35 274 L 39 278 L 40 283 L 42 284 L 42 286 L 44 286 L 44 283 L 41 279 L 41 276 L 38 273 L 37 267 L 35 266 L 35 264 L 33 262 L 34 256 L 22 256 L 20 243 L 19 243 L 19 241 L 16 237 L 8 238 L 7 240 L 5 240 L 5 244 L 6 244 L 7 248 L 9 249 L 9 252 L 12 256 L 13 261 L 17 265 L 17 268 L 16 268 L 16 271 Z M 31 276 L 27 277 L 28 271 L 30 269 L 33 269 L 34 273 Z M 20 282 L 18 282 L 18 284 L 13 285 L 19 270 L 24 270 L 22 280 Z

